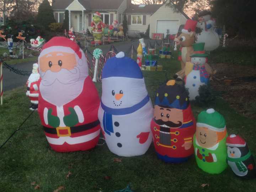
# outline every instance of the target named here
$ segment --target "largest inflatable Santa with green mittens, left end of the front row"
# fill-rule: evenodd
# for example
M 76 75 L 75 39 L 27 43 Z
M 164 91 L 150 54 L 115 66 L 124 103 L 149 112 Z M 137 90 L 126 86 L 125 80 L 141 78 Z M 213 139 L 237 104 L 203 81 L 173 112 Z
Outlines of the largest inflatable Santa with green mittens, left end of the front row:
M 38 112 L 53 150 L 94 148 L 100 134 L 100 99 L 88 76 L 84 52 L 65 37 L 54 37 L 38 58 L 41 82 Z

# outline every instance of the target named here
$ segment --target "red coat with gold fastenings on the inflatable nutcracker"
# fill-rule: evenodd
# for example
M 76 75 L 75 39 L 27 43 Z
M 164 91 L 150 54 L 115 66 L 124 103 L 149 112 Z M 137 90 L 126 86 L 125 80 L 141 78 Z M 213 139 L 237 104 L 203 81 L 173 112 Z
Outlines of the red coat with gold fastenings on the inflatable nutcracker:
M 196 132 L 196 121 L 190 106 L 186 110 L 183 110 L 183 117 L 184 122 L 180 128 L 170 129 L 171 145 L 161 144 L 160 126 L 152 119 L 150 127 L 153 133 L 155 150 L 158 154 L 162 156 L 166 155 L 169 158 L 186 158 L 194 153 L 193 135 Z M 185 142 L 191 142 L 190 149 L 185 150 L 182 146 Z

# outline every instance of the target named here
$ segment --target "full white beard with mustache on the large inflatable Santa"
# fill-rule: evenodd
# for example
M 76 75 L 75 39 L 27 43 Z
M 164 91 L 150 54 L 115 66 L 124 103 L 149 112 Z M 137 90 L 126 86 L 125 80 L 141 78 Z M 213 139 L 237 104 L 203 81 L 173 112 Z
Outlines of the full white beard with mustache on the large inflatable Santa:
M 85 77 L 80 77 L 77 67 L 71 71 L 61 69 L 57 73 L 48 70 L 42 73 L 41 78 L 39 89 L 43 99 L 59 107 L 81 94 L 85 80 Z

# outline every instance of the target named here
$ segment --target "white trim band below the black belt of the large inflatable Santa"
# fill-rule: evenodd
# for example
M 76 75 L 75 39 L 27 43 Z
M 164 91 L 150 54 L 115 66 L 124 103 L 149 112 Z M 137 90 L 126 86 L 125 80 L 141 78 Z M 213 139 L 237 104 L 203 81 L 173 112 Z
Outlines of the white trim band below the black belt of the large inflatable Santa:
M 63 145 L 65 142 L 74 145 L 78 143 L 84 143 L 84 142 L 89 142 L 90 140 L 96 138 L 100 134 L 100 129 L 97 130 L 94 133 L 90 133 L 87 135 L 82 135 L 80 137 L 59 137 L 59 138 L 52 138 L 52 137 L 47 137 L 46 139 L 50 144 L 54 145 Z

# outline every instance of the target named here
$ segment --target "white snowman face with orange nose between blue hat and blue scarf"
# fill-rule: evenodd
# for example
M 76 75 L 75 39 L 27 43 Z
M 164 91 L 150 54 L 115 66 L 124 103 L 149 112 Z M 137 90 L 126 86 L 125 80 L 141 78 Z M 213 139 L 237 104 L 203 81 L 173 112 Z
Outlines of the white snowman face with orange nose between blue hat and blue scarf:
M 144 79 L 109 77 L 102 79 L 101 101 L 110 108 L 132 107 L 148 95 Z

